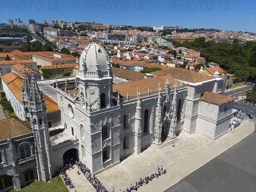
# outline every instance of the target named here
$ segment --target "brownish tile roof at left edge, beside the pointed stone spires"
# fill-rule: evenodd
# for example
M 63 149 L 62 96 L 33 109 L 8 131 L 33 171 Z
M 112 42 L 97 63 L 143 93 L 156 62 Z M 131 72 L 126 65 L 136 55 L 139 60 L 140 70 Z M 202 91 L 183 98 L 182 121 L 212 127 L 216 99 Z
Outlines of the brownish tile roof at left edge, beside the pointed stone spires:
M 31 125 L 18 119 L 4 119 L 0 121 L 0 140 L 32 133 Z

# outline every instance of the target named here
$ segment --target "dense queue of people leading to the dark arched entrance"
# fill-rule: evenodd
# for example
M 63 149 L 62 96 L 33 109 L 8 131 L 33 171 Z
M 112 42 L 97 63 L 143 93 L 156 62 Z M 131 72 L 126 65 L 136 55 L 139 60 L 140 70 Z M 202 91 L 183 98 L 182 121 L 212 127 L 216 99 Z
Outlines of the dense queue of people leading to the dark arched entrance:
M 87 180 L 90 181 L 90 183 L 93 185 L 97 192 L 108 192 L 105 186 L 103 186 L 103 184 L 97 179 L 97 177 L 91 174 L 90 169 L 87 166 L 85 166 L 85 164 L 82 164 L 81 161 L 76 161 L 76 165 L 79 167 L 79 169 L 87 178 Z

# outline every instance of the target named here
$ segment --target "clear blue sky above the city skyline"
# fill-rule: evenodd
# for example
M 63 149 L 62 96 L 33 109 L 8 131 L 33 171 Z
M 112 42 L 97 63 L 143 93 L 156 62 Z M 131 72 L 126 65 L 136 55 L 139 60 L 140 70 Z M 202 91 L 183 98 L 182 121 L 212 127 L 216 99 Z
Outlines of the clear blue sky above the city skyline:
M 256 32 L 256 0 L 0 0 L 0 23 L 17 17 Z

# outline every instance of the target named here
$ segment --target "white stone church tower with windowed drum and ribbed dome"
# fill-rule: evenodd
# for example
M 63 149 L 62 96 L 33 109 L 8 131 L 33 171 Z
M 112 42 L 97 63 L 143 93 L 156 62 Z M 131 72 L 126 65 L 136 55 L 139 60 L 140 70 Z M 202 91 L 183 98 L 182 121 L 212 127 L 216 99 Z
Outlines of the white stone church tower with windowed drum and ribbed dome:
M 76 76 L 80 106 L 92 112 L 113 105 L 113 73 L 104 48 L 94 41 L 81 54 Z

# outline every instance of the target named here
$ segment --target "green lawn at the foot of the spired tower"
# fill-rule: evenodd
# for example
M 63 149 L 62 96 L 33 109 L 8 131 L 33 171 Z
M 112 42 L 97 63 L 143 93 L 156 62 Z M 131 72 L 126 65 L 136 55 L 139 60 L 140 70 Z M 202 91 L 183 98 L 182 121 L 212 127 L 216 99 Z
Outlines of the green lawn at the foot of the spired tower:
M 12 189 L 10 192 L 17 192 L 17 190 Z M 19 192 L 68 192 L 68 190 L 58 175 L 47 182 L 34 181 L 28 186 L 23 187 Z

